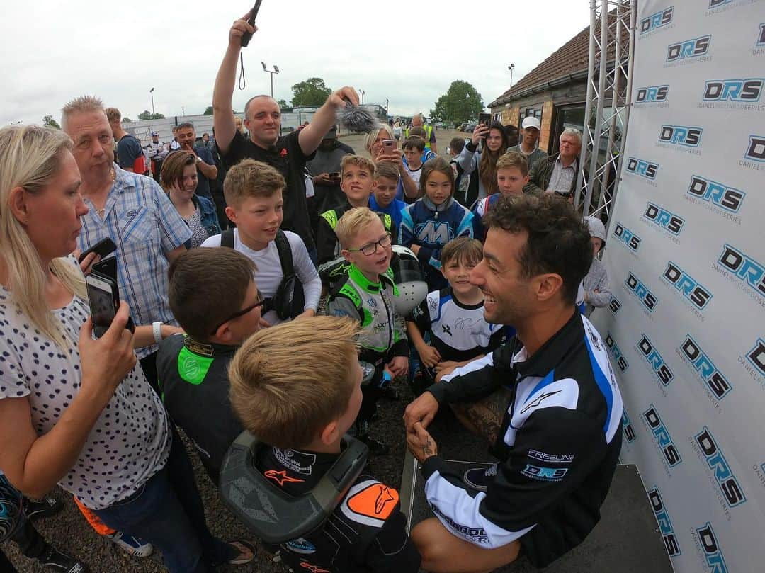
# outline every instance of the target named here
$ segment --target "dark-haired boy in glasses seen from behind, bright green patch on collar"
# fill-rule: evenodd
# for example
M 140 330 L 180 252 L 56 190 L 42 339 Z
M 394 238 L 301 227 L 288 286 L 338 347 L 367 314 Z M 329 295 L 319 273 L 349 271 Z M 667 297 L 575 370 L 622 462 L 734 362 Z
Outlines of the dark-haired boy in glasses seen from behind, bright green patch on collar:
M 186 334 L 160 345 L 162 398 L 216 484 L 226 450 L 243 431 L 229 402 L 228 368 L 239 345 L 260 328 L 263 297 L 255 271 L 241 252 L 216 247 L 184 252 L 168 273 L 170 307 Z

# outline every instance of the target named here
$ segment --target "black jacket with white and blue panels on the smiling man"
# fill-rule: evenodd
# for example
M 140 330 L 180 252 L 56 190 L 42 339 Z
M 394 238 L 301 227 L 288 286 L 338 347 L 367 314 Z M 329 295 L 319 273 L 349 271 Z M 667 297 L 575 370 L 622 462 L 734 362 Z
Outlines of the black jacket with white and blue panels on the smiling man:
M 621 448 L 622 400 L 607 350 L 575 312 L 532 356 L 514 341 L 428 390 L 439 404 L 511 393 L 487 493 L 468 490 L 437 456 L 423 464 L 425 495 L 455 536 L 487 549 L 519 539 L 544 567 L 581 543 L 600 519 Z M 519 344 L 520 347 L 520 344 Z

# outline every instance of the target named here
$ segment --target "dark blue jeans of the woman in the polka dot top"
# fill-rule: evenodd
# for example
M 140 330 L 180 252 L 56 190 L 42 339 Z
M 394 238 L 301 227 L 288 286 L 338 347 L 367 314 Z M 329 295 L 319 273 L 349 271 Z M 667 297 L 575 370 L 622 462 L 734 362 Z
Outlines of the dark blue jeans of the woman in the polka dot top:
M 95 513 L 109 527 L 151 542 L 171 573 L 215 571 L 215 565 L 226 562 L 228 545 L 207 529 L 194 468 L 171 428 L 168 464 L 134 496 Z

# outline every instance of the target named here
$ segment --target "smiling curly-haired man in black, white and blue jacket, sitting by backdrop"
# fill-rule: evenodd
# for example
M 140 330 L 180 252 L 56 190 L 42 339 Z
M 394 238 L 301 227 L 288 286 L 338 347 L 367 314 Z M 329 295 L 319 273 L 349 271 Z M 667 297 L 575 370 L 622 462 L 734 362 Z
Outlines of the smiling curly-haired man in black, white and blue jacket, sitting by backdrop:
M 470 281 L 483 291 L 486 320 L 512 324 L 517 337 L 444 376 L 405 412 L 436 516 L 412 530 L 428 571 L 490 571 L 520 553 L 548 565 L 600 519 L 621 447 L 607 350 L 575 308 L 591 263 L 587 226 L 552 195 L 503 198 L 487 223 Z M 493 445 L 499 463 L 483 480 L 438 457 L 425 428 L 441 404 Z

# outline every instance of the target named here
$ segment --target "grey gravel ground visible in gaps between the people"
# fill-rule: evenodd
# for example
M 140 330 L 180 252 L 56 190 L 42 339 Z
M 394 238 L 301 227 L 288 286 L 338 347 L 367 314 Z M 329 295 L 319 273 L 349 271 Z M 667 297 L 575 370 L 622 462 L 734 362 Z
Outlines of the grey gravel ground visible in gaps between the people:
M 446 146 L 452 137 L 461 134 L 454 131 L 438 131 L 438 155 L 448 157 Z M 363 136 L 347 135 L 341 140 L 354 148 L 357 153 L 363 153 Z M 399 144 L 400 146 L 400 144 Z M 397 402 L 382 399 L 379 402 L 379 420 L 373 423 L 373 433 L 389 444 L 391 453 L 387 456 L 373 457 L 372 472 L 384 483 L 400 487 L 403 470 L 406 441 L 402 425 L 402 415 L 406 404 L 412 399 L 409 388 L 398 383 L 402 398 Z M 246 528 L 226 509 L 216 487 L 207 477 L 197 457 L 194 448 L 187 447 L 197 477 L 200 494 L 207 510 L 207 523 L 214 535 L 221 539 L 252 539 Z M 167 571 L 158 554 L 149 558 L 132 558 L 122 549 L 102 536 L 99 536 L 86 523 L 80 511 L 74 505 L 71 497 L 56 489 L 52 495 L 65 503 L 63 511 L 49 519 L 38 520 L 35 527 L 41 534 L 58 549 L 70 555 L 77 556 L 86 562 L 93 573 L 161 573 Z M 0 544 L 0 548 L 8 555 L 18 571 L 24 573 L 47 573 L 48 569 L 41 567 L 36 561 L 28 559 L 18 552 L 15 543 Z M 282 565 L 271 562 L 269 556 L 262 551 L 258 544 L 259 556 L 249 565 L 221 567 L 220 571 L 287 571 Z M 5 573 L 5 571 L 0 571 Z

